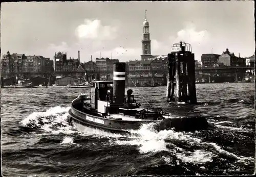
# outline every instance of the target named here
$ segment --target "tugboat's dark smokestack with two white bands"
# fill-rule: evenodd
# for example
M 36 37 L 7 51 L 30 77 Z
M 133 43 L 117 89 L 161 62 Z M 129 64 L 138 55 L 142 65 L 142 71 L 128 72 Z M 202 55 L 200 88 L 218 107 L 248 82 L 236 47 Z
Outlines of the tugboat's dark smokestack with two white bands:
M 113 76 L 113 94 L 116 96 L 115 104 L 123 104 L 125 90 L 125 63 L 114 63 Z

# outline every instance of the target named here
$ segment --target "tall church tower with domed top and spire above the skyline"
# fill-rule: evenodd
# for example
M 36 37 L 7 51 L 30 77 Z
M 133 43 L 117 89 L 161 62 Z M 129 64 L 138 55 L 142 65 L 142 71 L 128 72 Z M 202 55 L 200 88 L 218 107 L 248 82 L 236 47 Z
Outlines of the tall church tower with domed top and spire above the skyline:
M 146 20 L 146 10 L 145 10 L 145 21 L 143 22 L 143 39 L 142 42 L 142 55 L 141 60 L 145 61 L 147 58 L 151 57 L 151 40 L 150 40 L 150 24 Z

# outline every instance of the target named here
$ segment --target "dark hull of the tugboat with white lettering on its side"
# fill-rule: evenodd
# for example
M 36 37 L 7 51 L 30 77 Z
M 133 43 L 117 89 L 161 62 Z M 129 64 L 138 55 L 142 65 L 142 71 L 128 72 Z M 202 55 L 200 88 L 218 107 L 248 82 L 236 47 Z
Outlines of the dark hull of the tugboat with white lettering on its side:
M 200 131 L 208 129 L 208 123 L 205 117 L 168 117 L 162 120 L 129 120 L 114 119 L 98 115 L 96 112 L 87 110 L 82 112 L 83 104 L 81 104 L 82 95 L 73 100 L 69 115 L 72 120 L 87 127 L 94 127 L 110 132 L 130 132 L 129 130 L 139 130 L 142 124 L 154 122 L 156 131 L 169 130 L 174 128 L 175 131 Z M 122 116 L 120 116 L 122 118 Z

